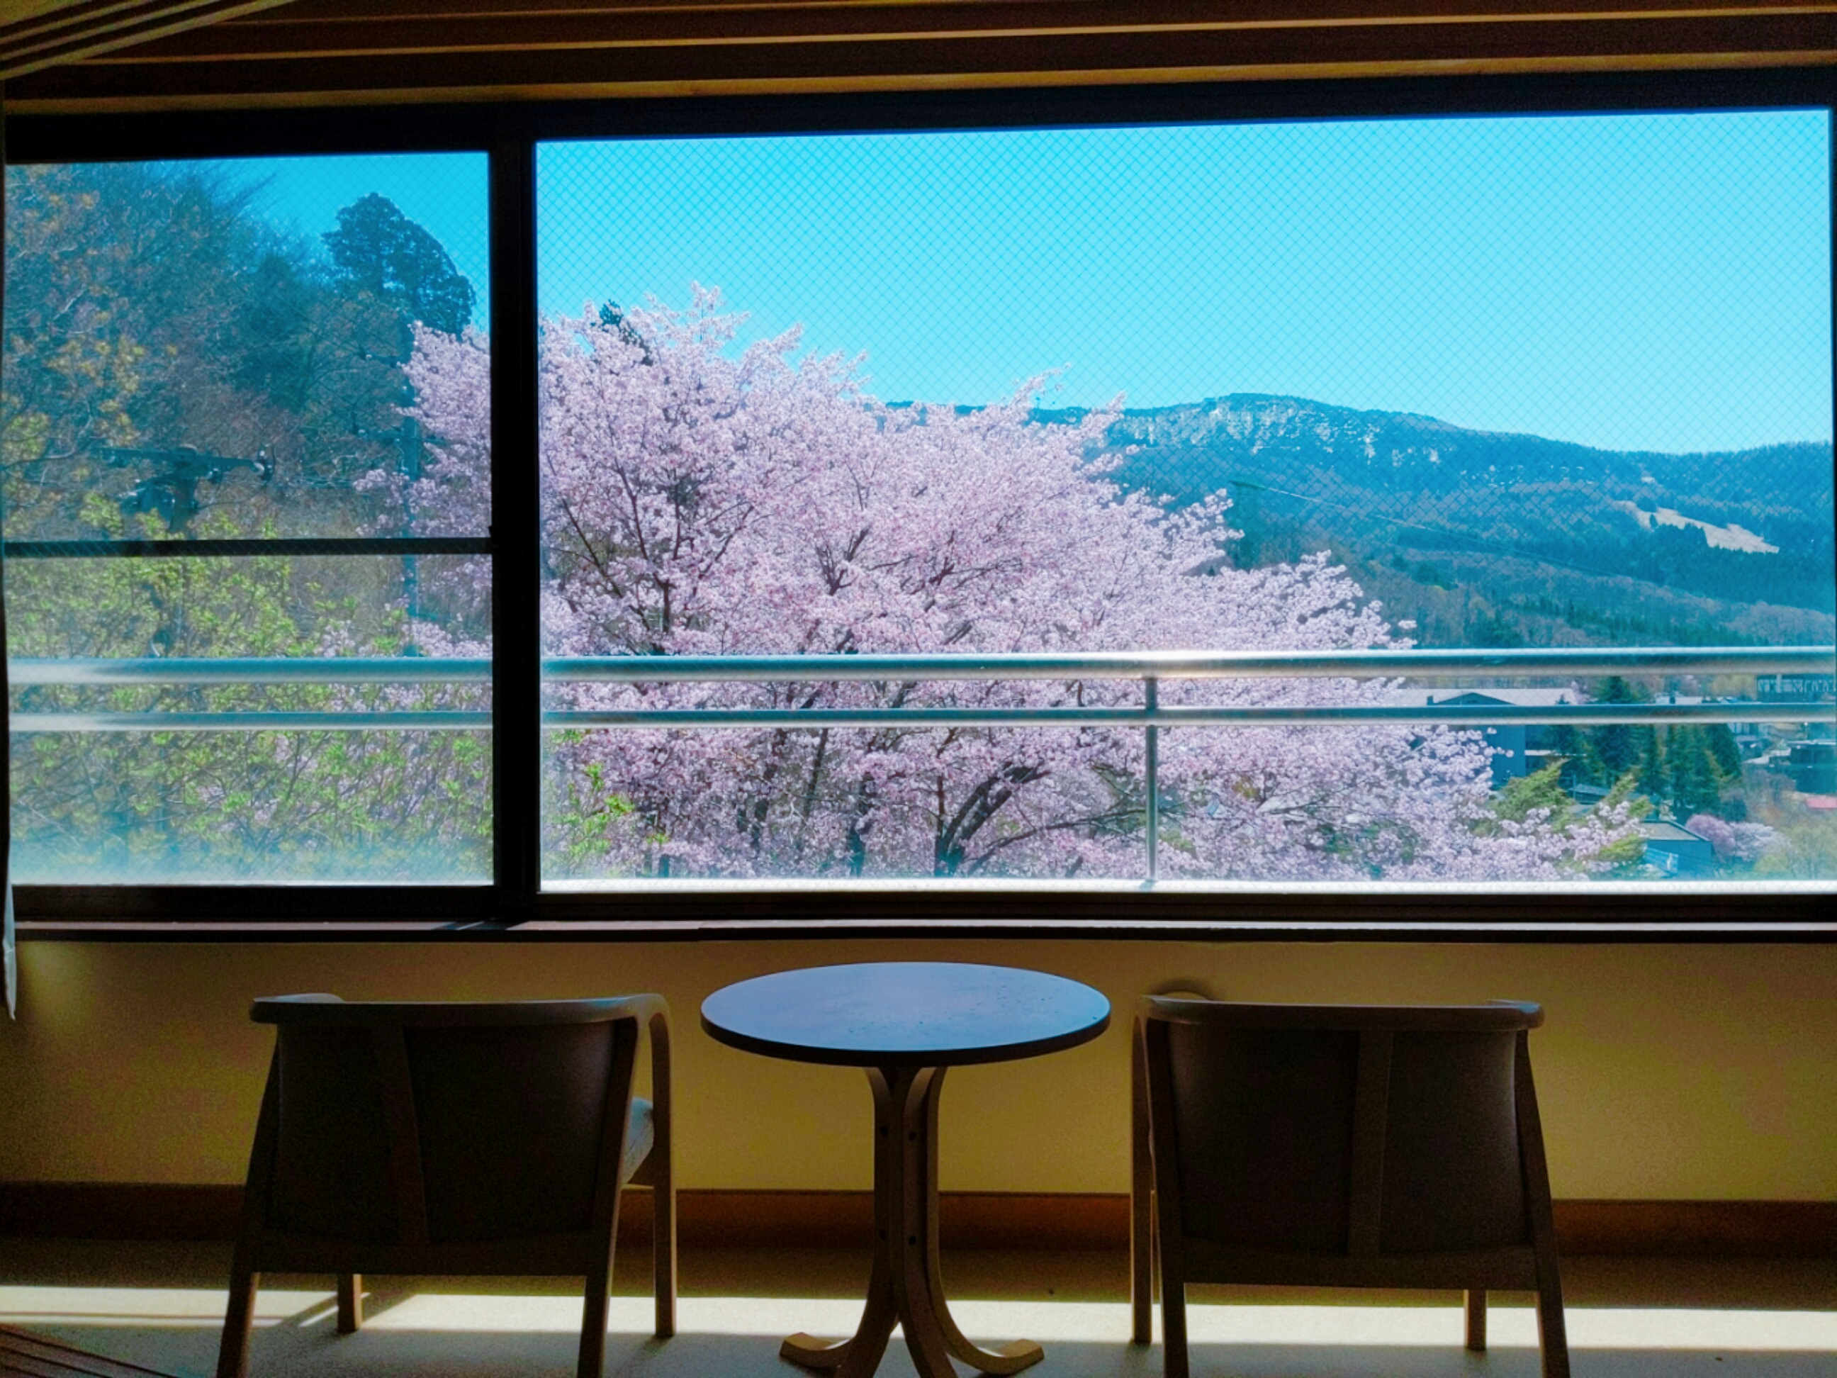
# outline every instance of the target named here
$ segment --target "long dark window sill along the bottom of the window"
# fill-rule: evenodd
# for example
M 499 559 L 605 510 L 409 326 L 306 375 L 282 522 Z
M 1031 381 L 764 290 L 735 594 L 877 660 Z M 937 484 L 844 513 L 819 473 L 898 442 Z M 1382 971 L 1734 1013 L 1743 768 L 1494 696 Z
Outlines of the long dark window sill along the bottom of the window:
M 281 904 L 279 898 L 287 902 Z M 114 900 L 114 902 L 110 902 Z M 406 908 L 404 902 L 413 902 Z M 20 887 L 20 941 L 1135 941 L 1824 943 L 1837 884 L 625 882 L 551 889 L 507 921 L 489 889 L 399 895 Z M 353 917 L 375 913 L 377 919 Z M 259 917 L 261 915 L 261 917 Z M 384 917 L 388 915 L 388 917 Z

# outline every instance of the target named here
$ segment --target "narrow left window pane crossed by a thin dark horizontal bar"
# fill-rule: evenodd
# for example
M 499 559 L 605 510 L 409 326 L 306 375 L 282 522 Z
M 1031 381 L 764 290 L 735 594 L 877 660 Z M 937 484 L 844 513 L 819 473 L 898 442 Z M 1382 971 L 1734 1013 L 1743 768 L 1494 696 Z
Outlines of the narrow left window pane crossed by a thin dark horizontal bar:
M 20 880 L 490 878 L 485 268 L 476 154 L 9 169 Z

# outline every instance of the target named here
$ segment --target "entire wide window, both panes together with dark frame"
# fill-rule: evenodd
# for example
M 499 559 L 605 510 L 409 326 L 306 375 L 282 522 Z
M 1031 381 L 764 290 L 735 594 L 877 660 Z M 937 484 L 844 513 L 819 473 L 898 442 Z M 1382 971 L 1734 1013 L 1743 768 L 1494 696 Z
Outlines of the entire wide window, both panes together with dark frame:
M 22 913 L 1800 922 L 1830 108 L 1624 86 L 24 121 Z

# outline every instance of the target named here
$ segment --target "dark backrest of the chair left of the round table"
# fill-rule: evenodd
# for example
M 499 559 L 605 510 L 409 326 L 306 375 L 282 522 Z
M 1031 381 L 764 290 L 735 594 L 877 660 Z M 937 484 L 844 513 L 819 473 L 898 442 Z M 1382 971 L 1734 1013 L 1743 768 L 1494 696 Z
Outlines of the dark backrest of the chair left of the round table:
M 274 1023 L 263 1226 L 366 1244 L 586 1231 L 617 1187 L 661 1001 L 257 1000 Z

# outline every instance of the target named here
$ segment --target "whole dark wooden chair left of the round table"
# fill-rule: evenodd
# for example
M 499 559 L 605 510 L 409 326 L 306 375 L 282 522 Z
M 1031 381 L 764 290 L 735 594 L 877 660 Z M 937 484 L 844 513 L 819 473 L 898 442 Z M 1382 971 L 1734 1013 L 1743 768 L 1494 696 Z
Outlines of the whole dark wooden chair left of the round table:
M 654 1200 L 656 1334 L 676 1332 L 671 1022 L 661 996 L 507 1005 L 257 1000 L 276 1025 L 217 1378 L 248 1372 L 263 1271 L 586 1275 L 579 1378 L 601 1378 L 619 1191 Z M 632 1097 L 650 1034 L 652 1101 Z

